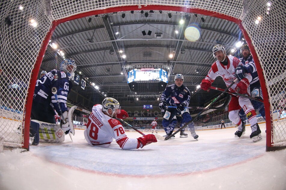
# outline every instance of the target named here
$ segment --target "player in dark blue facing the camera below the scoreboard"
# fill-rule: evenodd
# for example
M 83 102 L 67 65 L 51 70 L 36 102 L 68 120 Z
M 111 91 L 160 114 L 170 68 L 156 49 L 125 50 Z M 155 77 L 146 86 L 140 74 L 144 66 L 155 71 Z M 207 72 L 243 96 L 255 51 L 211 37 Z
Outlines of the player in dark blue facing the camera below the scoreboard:
M 189 113 L 189 110 L 184 108 L 189 106 L 190 100 L 190 91 L 187 87 L 183 85 L 184 77 L 182 74 L 176 74 L 175 76 L 175 84 L 168 85 L 165 91 L 161 95 L 161 102 L 159 104 L 159 108 L 161 110 L 165 110 L 165 106 L 168 104 L 170 106 L 177 106 L 177 108 L 168 108 L 163 117 L 162 126 L 167 135 L 169 136 L 173 133 L 175 128 L 174 117 L 175 115 L 180 113 L 182 115 L 182 121 L 180 126 L 184 126 L 186 123 L 192 120 L 192 117 Z M 167 102 L 168 101 L 168 102 Z M 190 123 L 187 126 L 193 136 L 193 138 L 197 139 L 198 135 L 195 133 L 195 125 L 194 122 Z M 188 135 L 184 132 L 184 129 L 180 131 L 180 138 L 188 137 Z M 175 137 L 172 136 L 171 139 Z

